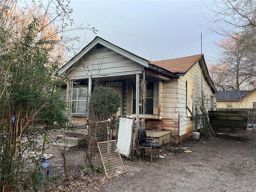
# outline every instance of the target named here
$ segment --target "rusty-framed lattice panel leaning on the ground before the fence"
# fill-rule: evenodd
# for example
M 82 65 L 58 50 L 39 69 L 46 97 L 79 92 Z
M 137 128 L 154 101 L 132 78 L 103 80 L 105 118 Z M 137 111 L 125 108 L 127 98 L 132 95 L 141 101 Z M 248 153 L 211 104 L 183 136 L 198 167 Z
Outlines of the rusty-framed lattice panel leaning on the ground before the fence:
M 98 142 L 97 144 L 107 178 L 124 173 L 124 164 L 117 149 L 116 140 Z

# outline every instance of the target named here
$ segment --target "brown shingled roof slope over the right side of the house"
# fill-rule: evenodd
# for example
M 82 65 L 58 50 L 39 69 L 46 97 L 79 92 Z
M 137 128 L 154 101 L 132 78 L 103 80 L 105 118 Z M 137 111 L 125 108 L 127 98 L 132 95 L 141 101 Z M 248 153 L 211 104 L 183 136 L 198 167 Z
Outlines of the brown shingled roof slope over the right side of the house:
M 198 54 L 182 58 L 149 61 L 149 63 L 173 73 L 186 73 L 198 60 L 200 60 L 201 56 L 201 54 Z

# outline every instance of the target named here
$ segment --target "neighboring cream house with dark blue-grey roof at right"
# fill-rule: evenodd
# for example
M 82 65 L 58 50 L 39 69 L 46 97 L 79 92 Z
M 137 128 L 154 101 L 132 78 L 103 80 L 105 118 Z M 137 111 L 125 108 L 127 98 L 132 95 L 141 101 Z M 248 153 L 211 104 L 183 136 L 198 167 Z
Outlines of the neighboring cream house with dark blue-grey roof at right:
M 256 89 L 251 91 L 218 91 L 216 108 L 256 108 Z

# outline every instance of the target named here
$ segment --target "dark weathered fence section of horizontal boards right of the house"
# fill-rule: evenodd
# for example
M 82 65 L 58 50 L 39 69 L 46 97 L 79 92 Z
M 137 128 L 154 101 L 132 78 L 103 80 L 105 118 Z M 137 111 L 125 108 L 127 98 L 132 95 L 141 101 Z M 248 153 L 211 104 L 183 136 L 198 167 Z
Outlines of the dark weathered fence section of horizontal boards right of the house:
M 209 111 L 208 115 L 216 136 L 236 140 L 246 139 L 247 111 Z

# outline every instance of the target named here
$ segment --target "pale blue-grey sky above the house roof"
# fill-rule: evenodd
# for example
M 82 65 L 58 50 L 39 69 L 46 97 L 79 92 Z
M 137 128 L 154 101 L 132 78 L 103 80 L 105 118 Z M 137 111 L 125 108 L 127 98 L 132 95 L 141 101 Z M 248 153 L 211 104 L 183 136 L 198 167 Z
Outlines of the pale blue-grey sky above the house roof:
M 162 60 L 201 54 L 212 60 L 218 36 L 205 26 L 211 16 L 210 0 L 71 0 L 77 25 L 90 24 L 98 30 L 75 32 L 80 49 L 95 36 L 143 58 Z

